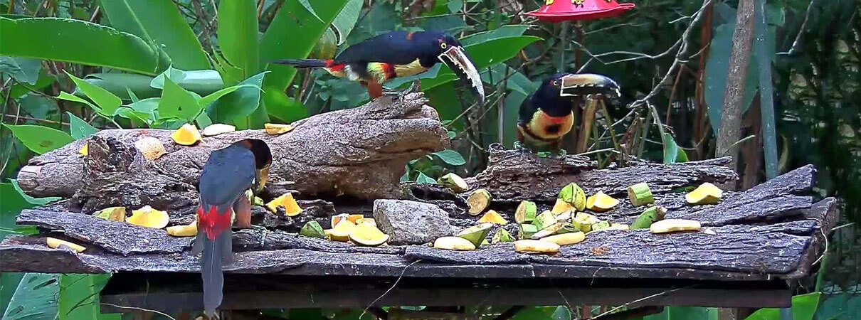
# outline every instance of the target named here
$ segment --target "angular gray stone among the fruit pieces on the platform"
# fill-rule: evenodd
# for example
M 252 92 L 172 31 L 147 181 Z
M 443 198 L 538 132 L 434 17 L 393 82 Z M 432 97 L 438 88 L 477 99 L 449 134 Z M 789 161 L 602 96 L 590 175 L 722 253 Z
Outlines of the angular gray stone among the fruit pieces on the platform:
M 430 203 L 375 200 L 374 218 L 390 244 L 429 243 L 452 234 L 449 213 Z

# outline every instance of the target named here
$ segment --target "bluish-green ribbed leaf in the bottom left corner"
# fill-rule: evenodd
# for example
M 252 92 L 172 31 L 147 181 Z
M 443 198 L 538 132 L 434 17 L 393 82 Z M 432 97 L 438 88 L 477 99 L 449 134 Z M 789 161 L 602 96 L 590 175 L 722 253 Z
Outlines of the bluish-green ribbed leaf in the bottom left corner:
M 24 274 L 3 314 L 6 320 L 54 320 L 59 274 Z

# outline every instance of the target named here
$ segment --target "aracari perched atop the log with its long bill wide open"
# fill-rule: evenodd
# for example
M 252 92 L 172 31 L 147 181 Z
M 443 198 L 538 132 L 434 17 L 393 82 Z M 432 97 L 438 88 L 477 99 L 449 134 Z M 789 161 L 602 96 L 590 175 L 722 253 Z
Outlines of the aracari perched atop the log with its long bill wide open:
M 472 60 L 460 41 L 435 31 L 392 31 L 350 46 L 334 59 L 313 58 L 270 61 L 297 68 L 324 68 L 336 77 L 359 81 L 371 99 L 383 95 L 382 83 L 394 77 L 407 77 L 428 71 L 442 61 L 469 85 L 476 98 L 484 102 L 484 87 Z

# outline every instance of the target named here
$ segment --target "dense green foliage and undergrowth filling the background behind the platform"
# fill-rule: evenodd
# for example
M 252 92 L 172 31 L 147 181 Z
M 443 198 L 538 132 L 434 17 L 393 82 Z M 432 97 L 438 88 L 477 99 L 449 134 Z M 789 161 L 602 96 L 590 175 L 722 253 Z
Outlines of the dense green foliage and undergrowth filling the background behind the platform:
M 477 104 L 444 65 L 387 83 L 404 89 L 421 78 L 421 89 L 453 142 L 451 150 L 409 163 L 403 180 L 432 182 L 446 172 L 472 175 L 483 169 L 486 146 L 511 146 L 517 108 L 555 71 L 604 74 L 623 89 L 620 102 L 593 108 L 595 120 L 589 123 L 580 122 L 589 108 L 579 110 L 579 131 L 564 145 L 569 154 L 588 152 L 602 165 L 624 165 L 620 155 L 666 163 L 715 157 L 738 1 L 645 0 L 620 17 L 591 22 L 550 24 L 520 15 L 541 3 L 0 0 L 0 236 L 33 232 L 16 227 L 15 215 L 52 200 L 23 195 L 15 185 L 17 170 L 30 157 L 98 129 L 176 128 L 186 122 L 258 128 L 353 108 L 369 99 L 360 84 L 265 61 L 331 58 L 393 29 L 455 34 L 486 84 L 486 103 Z M 815 163 L 816 192 L 846 200 L 839 224 L 845 226 L 829 242 L 824 276 L 802 285 L 851 292 L 859 272 L 852 253 L 861 248 L 857 225 L 847 225 L 861 218 L 861 5 L 784 0 L 765 8 L 766 20 L 756 27 L 762 41 L 754 41 L 744 89 L 742 129 L 749 138 L 738 143 L 739 187 L 764 181 L 769 168 L 782 173 Z M 757 61 L 771 61 L 771 78 Z M 771 87 L 774 114 L 760 108 L 769 100 L 762 92 Z M 775 121 L 763 126 L 763 117 Z M 767 144 L 764 149 L 764 141 L 776 141 L 774 154 Z M 98 315 L 95 294 L 107 279 L 2 274 L 0 315 L 118 318 Z M 817 318 L 840 318 L 841 308 L 858 304 L 848 298 L 839 300 L 843 305 L 834 302 L 840 298 L 820 302 L 818 292 L 799 295 L 793 312 L 796 319 L 809 319 L 822 305 Z M 469 309 L 488 317 L 504 310 Z M 314 312 L 329 318 L 361 313 Z M 568 319 L 579 312 L 578 307 L 534 307 L 515 318 Z M 775 319 L 777 313 L 762 310 L 752 318 Z M 716 318 L 716 310 L 667 308 L 646 318 Z

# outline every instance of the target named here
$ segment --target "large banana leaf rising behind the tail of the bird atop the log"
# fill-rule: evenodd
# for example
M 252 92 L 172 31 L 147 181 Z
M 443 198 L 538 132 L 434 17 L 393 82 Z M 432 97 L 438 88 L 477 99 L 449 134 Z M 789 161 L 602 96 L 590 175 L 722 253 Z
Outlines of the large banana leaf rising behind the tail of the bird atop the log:
M 314 1 L 316 16 L 299 1 L 285 2 L 260 40 L 260 60 L 265 63 L 280 58 L 306 58 L 348 1 Z M 266 70 L 271 72 L 263 79 L 263 102 L 269 113 L 285 121 L 307 117 L 307 108 L 300 103 L 289 102 L 291 99 L 284 94 L 284 89 L 293 82 L 296 70 L 275 64 L 267 65 Z

